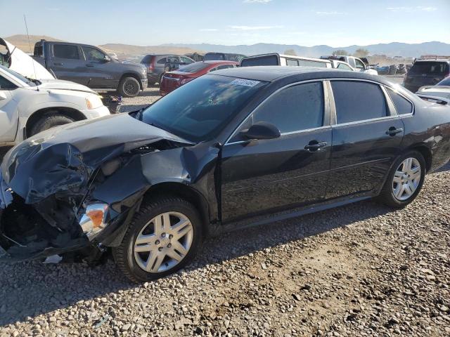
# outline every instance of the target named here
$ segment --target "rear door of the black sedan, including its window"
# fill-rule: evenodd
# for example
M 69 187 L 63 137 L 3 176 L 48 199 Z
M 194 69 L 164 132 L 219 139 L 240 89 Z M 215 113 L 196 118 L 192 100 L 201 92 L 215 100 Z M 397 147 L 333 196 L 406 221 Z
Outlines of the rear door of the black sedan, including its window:
M 401 152 L 403 122 L 379 84 L 332 80 L 330 86 L 335 123 L 326 197 L 376 194 Z

